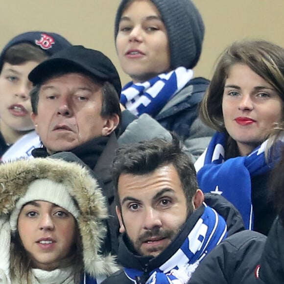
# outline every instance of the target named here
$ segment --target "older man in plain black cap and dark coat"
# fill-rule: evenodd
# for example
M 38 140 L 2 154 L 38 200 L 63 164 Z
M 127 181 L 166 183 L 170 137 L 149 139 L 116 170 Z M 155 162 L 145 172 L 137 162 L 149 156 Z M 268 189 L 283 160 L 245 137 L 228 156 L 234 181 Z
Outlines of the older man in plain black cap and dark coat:
M 118 248 L 118 220 L 110 166 L 118 147 L 121 83 L 111 60 L 100 51 L 71 46 L 39 64 L 28 76 L 32 120 L 43 147 L 34 157 L 83 162 L 101 183 L 110 206 L 109 250 Z

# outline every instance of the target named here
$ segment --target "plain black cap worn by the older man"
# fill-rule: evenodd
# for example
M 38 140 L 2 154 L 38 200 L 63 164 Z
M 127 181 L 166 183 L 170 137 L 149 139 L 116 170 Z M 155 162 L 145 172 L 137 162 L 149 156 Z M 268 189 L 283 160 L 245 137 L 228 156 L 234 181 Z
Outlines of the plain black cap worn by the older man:
M 36 85 L 52 74 L 69 70 L 82 71 L 100 81 L 110 82 L 120 96 L 121 82 L 112 61 L 102 52 L 83 46 L 71 46 L 50 56 L 29 73 L 28 79 Z

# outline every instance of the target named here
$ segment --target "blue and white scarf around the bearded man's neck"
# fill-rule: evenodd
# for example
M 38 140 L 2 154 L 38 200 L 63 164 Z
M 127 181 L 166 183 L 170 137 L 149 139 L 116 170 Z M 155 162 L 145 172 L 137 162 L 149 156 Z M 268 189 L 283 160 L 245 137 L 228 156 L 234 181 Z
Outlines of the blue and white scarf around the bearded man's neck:
M 227 237 L 227 225 L 214 209 L 205 206 L 182 246 L 159 268 L 150 272 L 145 284 L 185 284 L 199 262 L 223 239 Z M 126 276 L 135 284 L 142 283 L 143 272 L 123 268 Z

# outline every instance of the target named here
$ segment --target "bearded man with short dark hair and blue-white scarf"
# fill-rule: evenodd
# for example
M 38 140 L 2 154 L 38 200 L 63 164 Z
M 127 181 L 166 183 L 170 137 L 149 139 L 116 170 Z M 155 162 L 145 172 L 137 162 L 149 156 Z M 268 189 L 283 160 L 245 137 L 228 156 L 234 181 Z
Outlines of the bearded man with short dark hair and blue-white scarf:
M 240 213 L 224 197 L 203 195 L 175 137 L 119 148 L 113 179 L 123 269 L 103 284 L 186 284 L 201 266 L 215 278 L 194 284 L 253 283 L 265 236 L 243 231 Z

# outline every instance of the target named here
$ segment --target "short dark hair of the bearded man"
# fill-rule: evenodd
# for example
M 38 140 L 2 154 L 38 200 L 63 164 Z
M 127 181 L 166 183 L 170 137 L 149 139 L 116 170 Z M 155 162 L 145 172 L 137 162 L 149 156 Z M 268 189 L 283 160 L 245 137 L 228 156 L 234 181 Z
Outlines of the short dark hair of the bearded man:
M 196 171 L 189 156 L 182 151 L 180 140 L 173 134 L 170 142 L 156 138 L 118 148 L 112 167 L 118 207 L 118 179 L 121 174 L 143 175 L 166 165 L 175 167 L 187 199 L 188 212 L 192 211 L 192 197 L 198 189 Z

